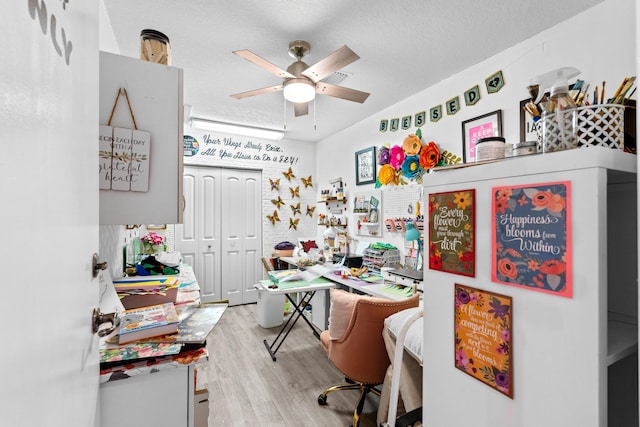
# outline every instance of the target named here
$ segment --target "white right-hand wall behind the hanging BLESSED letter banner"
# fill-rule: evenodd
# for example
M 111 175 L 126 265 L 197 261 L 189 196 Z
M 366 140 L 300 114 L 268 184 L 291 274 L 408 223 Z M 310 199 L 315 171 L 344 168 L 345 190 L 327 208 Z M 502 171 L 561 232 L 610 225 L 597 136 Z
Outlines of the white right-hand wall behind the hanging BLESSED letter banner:
M 348 196 L 360 189 L 373 188 L 373 184 L 355 185 L 353 153 L 372 145 L 380 147 L 384 144 L 402 144 L 403 139 L 416 130 L 412 127 L 408 131 L 381 133 L 378 131 L 380 120 L 413 116 L 425 110 L 428 116 L 430 108 L 442 104 L 444 109 L 445 102 L 455 96 L 460 97 L 460 111 L 453 116 L 445 113 L 437 123 L 427 121 L 422 127 L 423 142 L 433 140 L 442 150 L 462 156 L 462 121 L 495 110 L 502 110 L 503 133 L 507 142 L 519 142 L 519 102 L 529 97 L 526 87 L 534 76 L 554 68 L 574 66 L 582 71 L 579 78 L 585 83 L 591 83 L 591 90 L 596 84 L 602 86 L 602 81 L 606 80 L 607 93 L 612 95 L 624 77 L 637 74 L 634 58 L 635 15 L 632 9 L 635 3 L 607 0 L 320 141 L 317 148 L 318 182 L 326 183 L 329 178 L 341 175 L 348 184 Z M 438 64 L 433 64 L 434 68 L 437 66 Z M 499 70 L 503 72 L 505 86 L 499 92 L 489 95 L 484 80 Z M 425 69 L 424 72 L 428 73 L 429 70 Z M 398 76 L 398 81 L 393 84 L 402 84 L 402 76 Z M 480 86 L 481 99 L 474 106 L 466 107 L 464 92 L 476 84 Z M 428 175 L 424 182 L 428 185 Z M 384 200 L 382 203 L 384 204 Z M 350 225 L 351 234 L 355 234 L 354 227 L 353 224 Z M 397 233 L 383 231 L 385 241 L 402 247 L 403 241 L 397 236 Z M 368 240 L 375 241 L 379 238 Z

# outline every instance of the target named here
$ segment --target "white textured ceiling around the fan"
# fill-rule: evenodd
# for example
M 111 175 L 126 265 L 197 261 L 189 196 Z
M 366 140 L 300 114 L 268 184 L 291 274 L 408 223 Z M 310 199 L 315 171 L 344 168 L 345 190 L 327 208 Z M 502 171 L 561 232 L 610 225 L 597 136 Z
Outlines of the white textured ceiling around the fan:
M 171 41 L 193 117 L 283 128 L 318 141 L 602 0 L 103 0 L 120 54 L 140 56 L 140 30 Z M 341 86 L 370 92 L 364 104 L 316 97 L 294 117 L 282 93 L 229 95 L 282 83 L 232 54 L 249 49 L 286 69 L 288 44 L 311 43 L 313 65 L 346 44 L 360 59 Z M 314 124 L 316 130 L 314 130 Z

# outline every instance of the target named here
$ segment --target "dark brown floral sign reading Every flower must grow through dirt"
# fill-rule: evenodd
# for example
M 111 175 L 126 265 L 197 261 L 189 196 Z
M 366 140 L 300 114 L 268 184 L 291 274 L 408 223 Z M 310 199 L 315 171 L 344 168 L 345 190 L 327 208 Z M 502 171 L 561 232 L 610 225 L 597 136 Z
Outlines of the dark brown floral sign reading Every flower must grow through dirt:
M 475 277 L 476 190 L 429 194 L 429 268 Z

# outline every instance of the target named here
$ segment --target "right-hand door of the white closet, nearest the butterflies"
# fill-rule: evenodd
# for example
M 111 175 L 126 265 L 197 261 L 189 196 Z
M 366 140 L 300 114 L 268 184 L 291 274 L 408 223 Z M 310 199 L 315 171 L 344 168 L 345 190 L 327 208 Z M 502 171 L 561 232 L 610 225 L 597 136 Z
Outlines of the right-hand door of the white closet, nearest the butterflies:
M 262 247 L 261 172 L 222 171 L 222 294 L 230 305 L 257 300 Z

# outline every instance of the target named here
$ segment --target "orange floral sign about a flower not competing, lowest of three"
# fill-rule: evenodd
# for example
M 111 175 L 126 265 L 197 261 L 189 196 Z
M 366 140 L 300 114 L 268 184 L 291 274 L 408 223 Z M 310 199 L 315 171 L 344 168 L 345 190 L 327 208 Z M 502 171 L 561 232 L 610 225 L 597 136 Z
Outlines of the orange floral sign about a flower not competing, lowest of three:
M 511 297 L 456 284 L 454 366 L 513 399 Z

